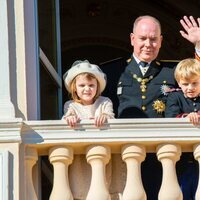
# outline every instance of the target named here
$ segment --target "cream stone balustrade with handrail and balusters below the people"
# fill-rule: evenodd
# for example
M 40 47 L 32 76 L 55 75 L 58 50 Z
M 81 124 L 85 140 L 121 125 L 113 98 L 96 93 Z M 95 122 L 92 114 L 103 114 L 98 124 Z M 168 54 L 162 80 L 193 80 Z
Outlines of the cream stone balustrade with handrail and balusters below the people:
M 4 143 L 1 133 L 9 127 L 13 130 L 13 122 L 0 123 Z M 162 166 L 158 199 L 182 200 L 176 162 L 183 152 L 193 152 L 200 163 L 200 128 L 187 119 L 112 119 L 101 129 L 88 120 L 76 129 L 60 120 L 18 121 L 16 127 L 7 138 L 11 146 L 19 144 L 18 165 L 24 170 L 17 176 L 19 182 L 26 180 L 26 191 L 16 199 L 41 199 L 39 181 L 33 178 L 41 156 L 48 156 L 53 166 L 51 200 L 146 200 L 141 164 L 148 153 L 155 153 Z M 79 158 L 83 160 L 76 165 Z

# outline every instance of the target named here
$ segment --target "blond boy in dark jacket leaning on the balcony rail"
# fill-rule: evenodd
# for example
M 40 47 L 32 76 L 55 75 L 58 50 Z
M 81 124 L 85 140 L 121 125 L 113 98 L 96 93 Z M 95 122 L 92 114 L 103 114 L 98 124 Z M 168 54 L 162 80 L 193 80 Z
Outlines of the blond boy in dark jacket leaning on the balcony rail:
M 193 58 L 182 60 L 174 75 L 181 91 L 169 94 L 165 117 L 188 117 L 194 125 L 199 125 L 200 61 Z

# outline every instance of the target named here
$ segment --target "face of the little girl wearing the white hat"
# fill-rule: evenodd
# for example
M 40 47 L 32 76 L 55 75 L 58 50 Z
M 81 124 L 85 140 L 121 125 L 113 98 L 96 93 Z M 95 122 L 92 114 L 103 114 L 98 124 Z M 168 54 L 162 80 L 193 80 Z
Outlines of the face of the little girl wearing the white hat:
M 90 105 L 94 103 L 97 86 L 98 84 L 95 78 L 88 79 L 82 74 L 76 77 L 76 93 L 83 105 Z

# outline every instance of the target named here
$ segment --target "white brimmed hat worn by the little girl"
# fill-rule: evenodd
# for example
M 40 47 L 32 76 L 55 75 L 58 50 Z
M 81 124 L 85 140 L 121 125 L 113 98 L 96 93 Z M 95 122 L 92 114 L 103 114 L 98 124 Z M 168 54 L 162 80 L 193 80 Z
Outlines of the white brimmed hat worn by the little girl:
M 106 74 L 102 72 L 102 70 L 94 64 L 90 64 L 89 61 L 75 61 L 72 67 L 63 75 L 63 80 L 66 89 L 70 91 L 70 85 L 72 80 L 79 74 L 82 73 L 90 73 L 95 76 L 97 81 L 99 82 L 100 92 L 106 87 Z

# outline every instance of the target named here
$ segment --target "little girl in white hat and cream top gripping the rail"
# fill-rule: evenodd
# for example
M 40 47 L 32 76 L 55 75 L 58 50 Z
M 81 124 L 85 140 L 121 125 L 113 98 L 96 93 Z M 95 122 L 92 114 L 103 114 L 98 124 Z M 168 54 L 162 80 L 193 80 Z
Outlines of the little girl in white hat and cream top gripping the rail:
M 82 119 L 94 119 L 97 127 L 114 118 L 113 104 L 100 96 L 106 86 L 106 75 L 87 60 L 76 61 L 63 76 L 72 100 L 64 104 L 64 116 L 69 126 L 75 127 Z

